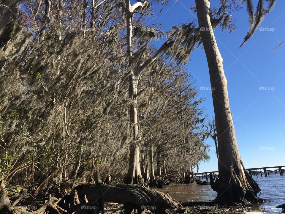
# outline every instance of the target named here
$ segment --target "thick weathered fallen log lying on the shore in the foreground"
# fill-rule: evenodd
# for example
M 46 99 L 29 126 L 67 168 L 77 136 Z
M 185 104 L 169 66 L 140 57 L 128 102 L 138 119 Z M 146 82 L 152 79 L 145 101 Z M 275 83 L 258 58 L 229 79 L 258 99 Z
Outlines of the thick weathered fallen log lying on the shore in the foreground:
M 153 213 L 161 214 L 165 213 L 166 209 L 176 209 L 179 206 L 178 202 L 173 200 L 168 194 L 140 185 L 79 185 L 70 193 L 71 199 L 75 196 L 74 192 L 80 200 L 86 195 L 88 202 L 98 201 L 103 194 L 105 202 L 124 204 L 124 214 L 130 214 L 134 209 L 137 209 L 137 213 L 142 213 L 143 210 L 148 209 Z

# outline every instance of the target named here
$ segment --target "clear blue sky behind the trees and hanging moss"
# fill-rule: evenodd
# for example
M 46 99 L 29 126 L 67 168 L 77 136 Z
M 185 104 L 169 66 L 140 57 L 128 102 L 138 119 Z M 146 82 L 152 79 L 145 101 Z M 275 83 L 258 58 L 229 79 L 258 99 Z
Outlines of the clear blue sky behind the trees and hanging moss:
M 257 2 L 254 2 L 256 6 Z M 163 28 L 169 30 L 173 25 L 188 23 L 188 19 L 197 21 L 197 14 L 189 11 L 194 3 L 193 0 L 171 1 L 150 23 L 162 23 Z M 217 1 L 212 0 L 211 3 L 216 4 Z M 154 13 L 158 14 L 160 9 L 160 6 L 155 7 Z M 242 48 L 239 46 L 248 31 L 246 5 L 232 15 L 237 29 L 230 34 L 220 29 L 214 33 L 224 59 L 240 155 L 246 168 L 285 165 L 285 43 L 273 51 L 285 39 L 285 1 L 276 1 L 260 25 L 265 31 L 258 29 Z M 210 87 L 203 49 L 196 49 L 191 54 L 188 70 L 198 89 Z M 260 87 L 265 87 L 265 90 L 260 90 Z M 200 96 L 205 98 L 205 113 L 212 118 L 211 91 L 201 90 Z M 206 143 L 214 147 L 212 139 Z M 200 164 L 200 172 L 218 170 L 215 151 L 211 150 L 209 155 L 210 161 Z

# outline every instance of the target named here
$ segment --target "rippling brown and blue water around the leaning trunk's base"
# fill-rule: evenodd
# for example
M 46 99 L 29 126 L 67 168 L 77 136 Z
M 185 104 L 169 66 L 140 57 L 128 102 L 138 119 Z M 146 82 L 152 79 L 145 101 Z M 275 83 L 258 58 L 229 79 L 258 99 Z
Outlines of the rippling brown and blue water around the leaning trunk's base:
M 270 174 L 270 177 L 261 177 L 259 174 L 258 178 L 254 176 L 254 180 L 257 181 L 261 189 L 259 197 L 271 202 L 254 204 L 253 207 L 250 207 L 249 211 L 281 213 L 282 209 L 276 208 L 276 206 L 285 203 L 285 176 Z M 185 202 L 209 202 L 213 201 L 217 196 L 217 193 L 212 190 L 210 185 L 197 185 L 196 182 L 179 186 L 169 185 L 156 190 L 168 193 L 177 201 Z

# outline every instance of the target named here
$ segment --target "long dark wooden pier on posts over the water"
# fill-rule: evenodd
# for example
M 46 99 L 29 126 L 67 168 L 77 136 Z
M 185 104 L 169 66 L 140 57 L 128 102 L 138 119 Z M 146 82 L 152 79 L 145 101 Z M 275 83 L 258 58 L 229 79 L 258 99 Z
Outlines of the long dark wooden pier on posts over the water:
M 285 173 L 285 166 L 270 166 L 270 167 L 260 167 L 260 168 L 249 168 L 246 169 L 248 171 L 248 173 L 251 175 L 255 175 L 256 177 L 258 177 L 258 175 L 260 175 L 261 177 L 263 177 L 263 175 L 265 177 L 270 177 L 270 174 L 280 174 L 281 176 Z M 209 171 L 209 172 L 198 172 L 196 174 L 196 177 L 202 177 L 202 179 L 204 179 L 204 177 L 206 177 L 206 180 L 208 181 L 208 179 L 210 178 L 210 173 L 213 173 L 214 178 L 216 179 L 216 177 L 219 177 L 219 171 Z

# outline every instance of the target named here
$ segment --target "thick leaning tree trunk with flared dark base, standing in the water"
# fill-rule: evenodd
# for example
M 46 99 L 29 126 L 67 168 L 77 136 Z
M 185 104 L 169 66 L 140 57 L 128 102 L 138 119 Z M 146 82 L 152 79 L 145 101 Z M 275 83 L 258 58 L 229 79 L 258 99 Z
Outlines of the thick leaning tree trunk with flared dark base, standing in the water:
M 260 191 L 257 183 L 249 176 L 243 166 L 235 136 L 232 114 L 229 107 L 227 80 L 223 69 L 223 59 L 219 52 L 210 22 L 208 0 L 195 0 L 197 16 L 204 50 L 207 56 L 213 106 L 219 145 L 219 179 L 216 191 L 219 203 L 259 202 Z

